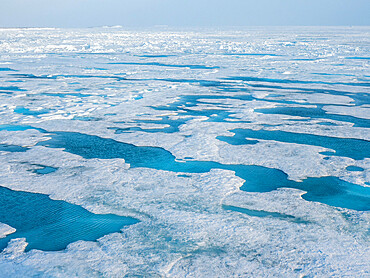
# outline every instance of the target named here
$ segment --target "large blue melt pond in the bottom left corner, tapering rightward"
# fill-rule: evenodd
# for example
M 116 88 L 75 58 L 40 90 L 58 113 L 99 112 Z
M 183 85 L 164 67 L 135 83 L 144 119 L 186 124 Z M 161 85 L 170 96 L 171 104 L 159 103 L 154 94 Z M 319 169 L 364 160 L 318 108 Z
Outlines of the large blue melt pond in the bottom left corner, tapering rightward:
M 58 251 L 78 240 L 94 241 L 120 232 L 123 226 L 139 221 L 113 214 L 94 214 L 44 194 L 0 187 L 0 222 L 16 229 L 15 233 L 0 238 L 0 250 L 11 239 L 26 238 L 26 251 Z

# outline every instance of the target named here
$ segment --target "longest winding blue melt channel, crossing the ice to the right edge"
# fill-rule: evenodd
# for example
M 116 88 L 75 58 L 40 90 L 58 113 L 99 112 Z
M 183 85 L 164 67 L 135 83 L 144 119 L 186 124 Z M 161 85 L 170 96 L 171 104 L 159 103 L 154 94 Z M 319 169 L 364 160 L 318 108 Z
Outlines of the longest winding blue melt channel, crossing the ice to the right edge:
M 245 180 L 241 187 L 245 191 L 268 192 L 281 187 L 297 188 L 307 192 L 303 198 L 309 201 L 354 210 L 370 210 L 370 188 L 348 183 L 336 177 L 307 178 L 302 182 L 295 182 L 288 180 L 283 171 L 262 166 L 228 165 L 211 161 L 176 161 L 170 152 L 162 148 L 138 147 L 76 132 L 54 132 L 48 136 L 51 136 L 51 139 L 38 145 L 63 148 L 86 159 L 123 158 L 131 167 L 181 173 L 205 173 L 211 169 L 232 170 Z

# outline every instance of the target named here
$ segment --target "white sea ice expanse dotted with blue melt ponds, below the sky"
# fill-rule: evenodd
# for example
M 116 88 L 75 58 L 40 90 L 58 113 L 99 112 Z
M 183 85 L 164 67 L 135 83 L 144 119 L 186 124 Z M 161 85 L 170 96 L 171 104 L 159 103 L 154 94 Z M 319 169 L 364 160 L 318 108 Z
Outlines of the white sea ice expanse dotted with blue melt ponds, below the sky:
M 0 277 L 369 277 L 369 53 L 369 27 L 0 29 Z

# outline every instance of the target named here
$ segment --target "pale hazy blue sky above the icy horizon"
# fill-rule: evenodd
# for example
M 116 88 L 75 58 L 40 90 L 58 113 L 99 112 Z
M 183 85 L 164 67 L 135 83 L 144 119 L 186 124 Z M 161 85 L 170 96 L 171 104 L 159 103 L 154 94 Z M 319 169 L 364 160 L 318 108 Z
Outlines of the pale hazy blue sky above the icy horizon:
M 370 0 L 0 0 L 0 27 L 370 25 Z

